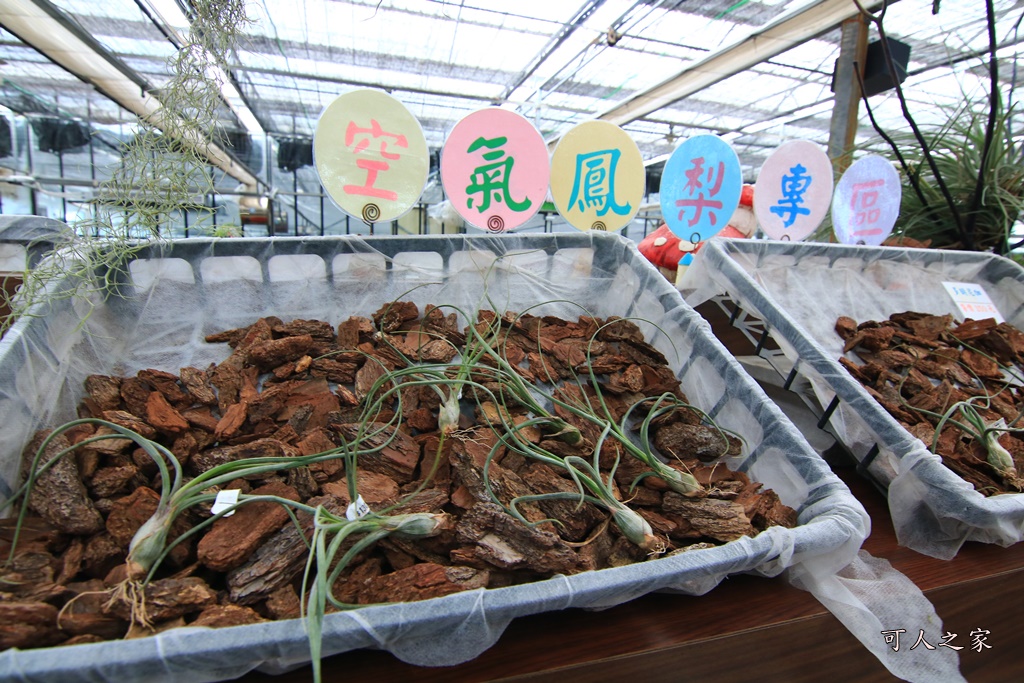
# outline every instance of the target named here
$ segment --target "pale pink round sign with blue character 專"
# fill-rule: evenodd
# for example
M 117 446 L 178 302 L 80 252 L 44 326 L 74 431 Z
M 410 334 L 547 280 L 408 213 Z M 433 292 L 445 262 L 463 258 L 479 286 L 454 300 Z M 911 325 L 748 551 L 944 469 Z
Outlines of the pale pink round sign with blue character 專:
M 831 162 L 807 140 L 780 145 L 761 167 L 754 213 L 772 240 L 799 242 L 813 232 L 831 202 Z

